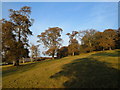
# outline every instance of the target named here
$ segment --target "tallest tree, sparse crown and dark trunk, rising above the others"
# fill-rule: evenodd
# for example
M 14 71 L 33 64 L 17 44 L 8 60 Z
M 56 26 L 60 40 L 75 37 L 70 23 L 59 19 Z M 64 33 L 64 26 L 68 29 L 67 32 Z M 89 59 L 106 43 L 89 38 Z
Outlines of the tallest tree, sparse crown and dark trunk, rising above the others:
M 14 24 L 15 38 L 17 41 L 16 52 L 19 53 L 15 65 L 19 65 L 19 59 L 23 57 L 22 52 L 27 49 L 28 35 L 32 35 L 29 27 L 32 26 L 33 19 L 30 19 L 31 8 L 24 6 L 20 10 L 10 9 L 10 21 Z M 21 49 L 22 48 L 22 49 Z M 20 54 L 21 53 L 21 54 Z

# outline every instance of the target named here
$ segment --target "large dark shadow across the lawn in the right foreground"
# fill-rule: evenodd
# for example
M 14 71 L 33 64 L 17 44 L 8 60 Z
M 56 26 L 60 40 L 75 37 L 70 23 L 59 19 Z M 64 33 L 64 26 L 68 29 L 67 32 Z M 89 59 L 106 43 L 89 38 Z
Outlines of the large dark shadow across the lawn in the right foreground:
M 120 71 L 107 65 L 93 58 L 77 59 L 50 78 L 69 77 L 63 83 L 66 88 L 117 88 Z

